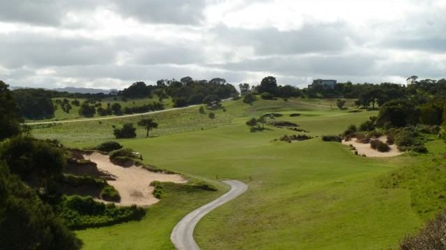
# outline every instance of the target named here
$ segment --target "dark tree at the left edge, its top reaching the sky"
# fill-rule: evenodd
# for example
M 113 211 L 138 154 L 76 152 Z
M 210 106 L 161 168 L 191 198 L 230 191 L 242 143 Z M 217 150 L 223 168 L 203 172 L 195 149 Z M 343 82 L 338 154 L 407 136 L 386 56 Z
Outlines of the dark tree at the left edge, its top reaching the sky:
M 20 132 L 18 113 L 19 107 L 8 85 L 0 81 L 0 141 Z

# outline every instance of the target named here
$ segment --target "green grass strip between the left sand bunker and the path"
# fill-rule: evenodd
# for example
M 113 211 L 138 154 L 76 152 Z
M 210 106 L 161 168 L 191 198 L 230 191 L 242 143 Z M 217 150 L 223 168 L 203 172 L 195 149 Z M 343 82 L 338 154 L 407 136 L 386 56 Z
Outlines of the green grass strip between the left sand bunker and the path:
M 175 224 L 203 203 L 227 192 L 221 183 L 217 192 L 194 190 L 185 185 L 163 183 L 165 197 L 146 208 L 146 216 L 138 222 L 125 222 L 102 228 L 76 231 L 84 249 L 174 249 L 170 234 Z

